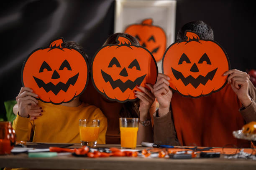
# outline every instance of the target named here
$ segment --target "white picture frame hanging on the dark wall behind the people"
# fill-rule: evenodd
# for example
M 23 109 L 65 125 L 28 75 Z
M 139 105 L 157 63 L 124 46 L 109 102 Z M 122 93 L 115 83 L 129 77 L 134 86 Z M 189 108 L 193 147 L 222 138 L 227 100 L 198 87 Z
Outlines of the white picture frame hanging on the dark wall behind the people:
M 128 25 L 153 19 L 153 25 L 160 26 L 166 33 L 166 48 L 175 40 L 176 0 L 115 0 L 114 33 L 124 32 Z M 162 72 L 161 60 L 157 62 Z

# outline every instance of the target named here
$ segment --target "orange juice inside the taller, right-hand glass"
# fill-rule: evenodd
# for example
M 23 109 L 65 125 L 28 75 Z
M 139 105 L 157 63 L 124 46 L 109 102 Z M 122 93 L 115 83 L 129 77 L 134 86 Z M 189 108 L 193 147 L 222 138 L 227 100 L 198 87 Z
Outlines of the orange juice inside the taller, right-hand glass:
M 121 147 L 136 148 L 138 127 L 120 127 Z

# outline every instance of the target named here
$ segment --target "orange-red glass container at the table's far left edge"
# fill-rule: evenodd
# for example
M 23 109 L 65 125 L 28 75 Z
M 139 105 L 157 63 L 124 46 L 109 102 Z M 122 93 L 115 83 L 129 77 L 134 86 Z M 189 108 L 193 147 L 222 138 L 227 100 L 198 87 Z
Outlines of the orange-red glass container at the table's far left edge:
M 11 122 L 0 122 L 0 155 L 10 154 L 15 145 L 15 130 Z

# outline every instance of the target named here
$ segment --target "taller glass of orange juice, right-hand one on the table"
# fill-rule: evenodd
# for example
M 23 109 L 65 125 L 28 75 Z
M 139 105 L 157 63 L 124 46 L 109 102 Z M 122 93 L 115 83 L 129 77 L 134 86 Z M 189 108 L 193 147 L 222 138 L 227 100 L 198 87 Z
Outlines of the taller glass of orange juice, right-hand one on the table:
M 121 148 L 136 148 L 138 133 L 138 118 L 119 118 L 121 133 Z

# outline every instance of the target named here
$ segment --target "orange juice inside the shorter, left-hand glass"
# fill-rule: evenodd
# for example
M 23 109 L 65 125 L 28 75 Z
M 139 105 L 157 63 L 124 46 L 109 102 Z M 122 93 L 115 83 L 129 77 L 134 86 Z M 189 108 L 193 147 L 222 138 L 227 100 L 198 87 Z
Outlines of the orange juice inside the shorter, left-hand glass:
M 100 127 L 79 126 L 80 139 L 84 142 L 95 142 L 98 139 Z

